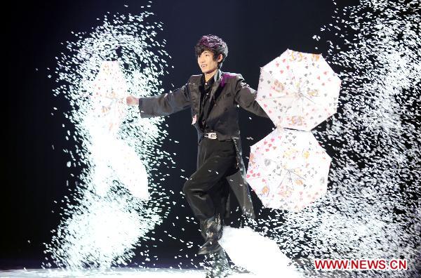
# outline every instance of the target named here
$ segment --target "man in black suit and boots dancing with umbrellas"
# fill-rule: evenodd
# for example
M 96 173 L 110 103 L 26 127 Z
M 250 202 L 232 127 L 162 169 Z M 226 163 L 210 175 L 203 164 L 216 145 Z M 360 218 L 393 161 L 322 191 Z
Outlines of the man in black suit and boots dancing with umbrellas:
M 262 117 L 267 114 L 241 74 L 221 72 L 228 55 L 225 41 L 213 35 L 203 36 L 195 51 L 201 75 L 192 75 L 185 86 L 171 93 L 140 99 L 131 95 L 127 103 L 138 105 L 140 116 L 146 118 L 190 108 L 199 146 L 196 172 L 185 183 L 183 192 L 200 221 L 205 239 L 199 254 L 212 254 L 214 259 L 207 277 L 224 277 L 229 265 L 218 239 L 222 236 L 223 219 L 229 215 L 229 187 L 243 214 L 255 218 L 244 178 L 237 107 Z

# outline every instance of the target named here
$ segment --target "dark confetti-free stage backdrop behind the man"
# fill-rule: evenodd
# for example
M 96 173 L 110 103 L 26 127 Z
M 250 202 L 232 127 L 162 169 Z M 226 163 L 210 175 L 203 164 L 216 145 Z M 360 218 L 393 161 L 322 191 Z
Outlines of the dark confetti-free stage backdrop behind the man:
M 340 1 L 340 5 L 356 2 Z M 102 19 L 107 12 L 138 14 L 145 11 L 140 6 L 147 4 L 142 0 L 15 1 L 4 11 L 6 91 L 3 101 L 6 98 L 6 104 L 2 113 L 6 115 L 2 117 L 5 127 L 1 156 L 0 268 L 41 267 L 45 257 L 42 243 L 51 240 L 50 230 L 60 221 L 58 213 L 52 213 L 59 209 L 53 201 L 60 201 L 68 193 L 65 184 L 71 180 L 71 171 L 66 167 L 67 154 L 62 149 L 69 147 L 69 142 L 65 140 L 66 128 L 62 128 L 62 124 L 69 121 L 61 112 L 51 113 L 53 107 L 65 112 L 69 105 L 65 98 L 53 97 L 56 84 L 54 78 L 47 77 L 52 74 L 47 67 L 54 69 L 55 56 L 64 50 L 60 42 L 73 40 L 71 31 L 89 32 L 91 27 L 100 24 L 96 18 Z M 216 34 L 225 39 L 229 47 L 222 70 L 243 74 L 248 84 L 257 88 L 260 67 L 286 48 L 326 54 L 326 39 L 323 43 L 323 37 L 320 42 L 312 37 L 319 34 L 322 25 L 330 22 L 334 8 L 333 1 L 328 0 L 154 1 L 147 11 L 155 14 L 154 20 L 163 22 L 159 38 L 166 39 L 166 51 L 172 56 L 169 63 L 174 66 L 170 74 L 163 77 L 163 86 L 170 90 L 171 84 L 182 86 L 191 74 L 199 74 L 194 44 L 203 34 Z M 169 137 L 180 142 L 175 162 L 185 169 L 187 176 L 196 167 L 196 131 L 190 121 L 187 110 L 166 118 Z M 258 119 L 244 111 L 240 125 L 244 156 L 248 156 L 249 146 L 272 128 L 267 119 Z M 254 140 L 246 140 L 248 136 Z M 163 145 L 163 148 L 175 152 L 171 150 L 173 145 Z M 176 177 L 166 180 L 163 186 L 180 192 L 184 181 Z M 187 206 L 185 200 L 180 201 Z M 192 216 L 187 206 L 184 211 L 172 212 L 161 227 L 171 225 L 175 214 L 180 218 Z M 158 238 L 160 230 L 156 228 Z M 186 233 L 179 237 L 201 244 L 195 229 L 186 229 Z M 168 241 L 157 246 L 154 252 L 168 257 L 171 265 L 169 259 L 174 258 L 182 246 L 180 242 Z M 136 260 L 140 259 L 133 258 Z

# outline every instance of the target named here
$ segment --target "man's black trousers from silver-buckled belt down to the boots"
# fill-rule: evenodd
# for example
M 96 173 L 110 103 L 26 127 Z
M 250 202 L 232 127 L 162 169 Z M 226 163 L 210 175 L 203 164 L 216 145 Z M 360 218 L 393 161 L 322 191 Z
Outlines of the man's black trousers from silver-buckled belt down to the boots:
M 225 177 L 236 172 L 234 142 L 203 137 L 197 152 L 197 170 L 182 190 L 196 218 L 204 220 L 217 213 L 224 218 L 229 193 Z

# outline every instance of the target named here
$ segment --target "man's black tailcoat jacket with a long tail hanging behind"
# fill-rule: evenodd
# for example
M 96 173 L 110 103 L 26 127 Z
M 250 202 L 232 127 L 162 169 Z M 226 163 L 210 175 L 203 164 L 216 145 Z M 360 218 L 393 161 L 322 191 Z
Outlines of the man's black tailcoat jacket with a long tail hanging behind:
M 215 81 L 210 91 L 210 99 L 214 96 L 215 104 L 206 117 L 206 124 L 218 134 L 218 140 L 234 140 L 239 171 L 227 177 L 227 181 L 239 200 L 243 213 L 255 218 L 241 154 L 238 107 L 261 117 L 269 117 L 255 100 L 256 91 L 246 84 L 241 74 L 221 72 L 218 69 L 213 78 Z M 171 93 L 140 98 L 140 117 L 166 116 L 190 108 L 192 124 L 197 130 L 198 142 L 200 142 L 203 138 L 203 131 L 199 128 L 200 84 L 201 75 L 192 75 L 185 86 Z

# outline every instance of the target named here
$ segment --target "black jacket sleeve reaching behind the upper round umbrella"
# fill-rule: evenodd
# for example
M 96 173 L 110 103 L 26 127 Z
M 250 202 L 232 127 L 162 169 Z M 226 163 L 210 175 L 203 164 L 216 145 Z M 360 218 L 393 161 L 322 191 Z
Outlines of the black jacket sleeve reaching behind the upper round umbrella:
M 241 74 L 237 74 L 235 84 L 235 100 L 236 102 L 248 112 L 252 112 L 260 117 L 269 118 L 265 110 L 260 107 L 259 103 L 255 100 L 257 92 L 248 86 L 244 81 Z

